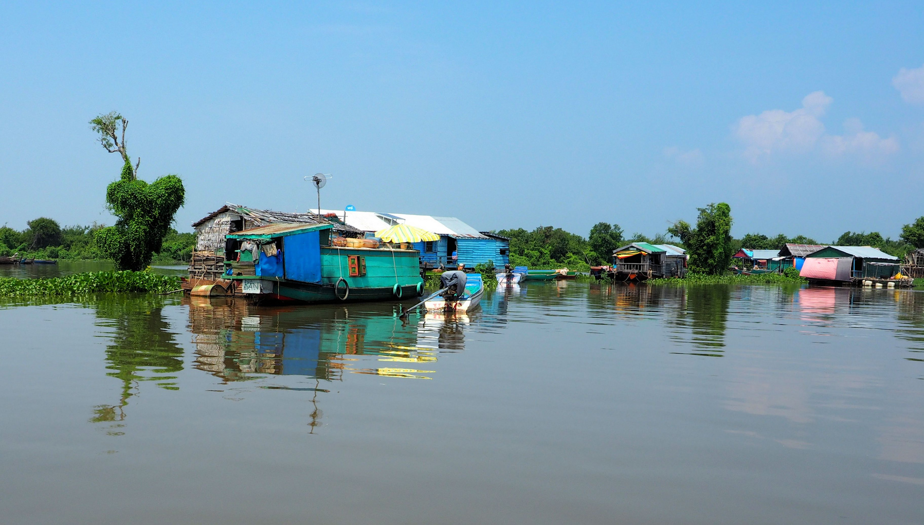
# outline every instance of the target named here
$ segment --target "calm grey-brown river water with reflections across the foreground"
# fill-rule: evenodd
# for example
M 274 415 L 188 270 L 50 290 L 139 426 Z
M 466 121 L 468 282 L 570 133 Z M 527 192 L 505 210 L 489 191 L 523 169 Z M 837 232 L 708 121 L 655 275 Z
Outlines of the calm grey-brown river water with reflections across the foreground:
M 924 522 L 924 292 L 0 306 L 4 523 Z

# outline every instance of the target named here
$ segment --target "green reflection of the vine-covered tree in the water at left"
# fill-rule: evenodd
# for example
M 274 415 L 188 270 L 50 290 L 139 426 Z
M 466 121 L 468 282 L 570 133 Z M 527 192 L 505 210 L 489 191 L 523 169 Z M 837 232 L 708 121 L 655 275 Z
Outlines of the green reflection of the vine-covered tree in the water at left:
M 176 390 L 176 374 L 183 370 L 183 349 L 176 344 L 176 334 L 164 320 L 164 299 L 140 301 L 128 294 L 113 294 L 95 304 L 96 325 L 106 328 L 111 343 L 106 346 L 106 376 L 122 382 L 121 395 L 115 404 L 93 409 L 92 423 L 113 423 L 107 431 L 121 435 L 119 424 L 125 420 L 128 400 L 138 392 L 141 381 L 153 381 L 158 387 Z

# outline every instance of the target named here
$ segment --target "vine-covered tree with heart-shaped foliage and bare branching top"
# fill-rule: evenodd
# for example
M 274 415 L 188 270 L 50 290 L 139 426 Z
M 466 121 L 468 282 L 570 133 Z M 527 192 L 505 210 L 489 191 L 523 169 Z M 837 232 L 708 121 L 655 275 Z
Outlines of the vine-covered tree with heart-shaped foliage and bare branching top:
M 161 251 L 176 210 L 185 202 L 183 181 L 174 174 L 165 175 L 150 185 L 138 180 L 140 159 L 131 165 L 125 144 L 128 120 L 122 115 L 116 112 L 101 114 L 90 124 L 93 131 L 99 133 L 103 148 L 121 154 L 124 161 L 121 177 L 106 188 L 106 204 L 118 221 L 115 226 L 96 232 L 96 245 L 105 257 L 116 262 L 116 268 L 144 269 L 151 263 L 153 254 Z

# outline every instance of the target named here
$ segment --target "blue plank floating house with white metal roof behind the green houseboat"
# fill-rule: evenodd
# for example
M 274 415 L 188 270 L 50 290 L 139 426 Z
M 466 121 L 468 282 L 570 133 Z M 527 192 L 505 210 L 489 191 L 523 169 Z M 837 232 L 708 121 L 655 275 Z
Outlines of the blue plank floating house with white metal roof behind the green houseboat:
M 496 233 L 479 232 L 455 217 L 322 209 L 324 217 L 331 214 L 337 214 L 340 221 L 365 232 L 367 237 L 395 224 L 407 224 L 436 233 L 440 236 L 439 241 L 413 245 L 420 252 L 422 268 L 455 267 L 459 263 L 466 268 L 474 268 L 488 261 L 493 262 L 494 268 L 504 268 L 510 262 L 510 239 Z M 456 258 L 453 257 L 454 252 Z

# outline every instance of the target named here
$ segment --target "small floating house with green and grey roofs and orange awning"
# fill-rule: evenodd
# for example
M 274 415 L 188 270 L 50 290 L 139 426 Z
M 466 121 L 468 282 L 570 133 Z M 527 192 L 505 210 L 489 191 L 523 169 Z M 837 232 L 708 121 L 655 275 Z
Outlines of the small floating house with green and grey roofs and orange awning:
M 687 252 L 675 245 L 632 243 L 613 251 L 615 280 L 648 280 L 687 275 Z

